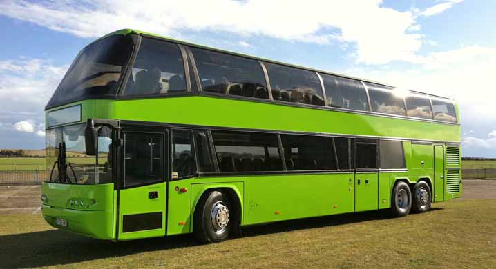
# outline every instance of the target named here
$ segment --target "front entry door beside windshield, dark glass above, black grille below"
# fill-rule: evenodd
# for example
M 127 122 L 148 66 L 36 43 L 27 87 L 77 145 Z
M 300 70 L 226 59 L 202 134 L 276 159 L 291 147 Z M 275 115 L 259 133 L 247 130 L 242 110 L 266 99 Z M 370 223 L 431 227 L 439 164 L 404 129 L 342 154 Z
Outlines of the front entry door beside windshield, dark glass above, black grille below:
M 118 239 L 164 236 L 167 132 L 129 130 L 122 137 Z

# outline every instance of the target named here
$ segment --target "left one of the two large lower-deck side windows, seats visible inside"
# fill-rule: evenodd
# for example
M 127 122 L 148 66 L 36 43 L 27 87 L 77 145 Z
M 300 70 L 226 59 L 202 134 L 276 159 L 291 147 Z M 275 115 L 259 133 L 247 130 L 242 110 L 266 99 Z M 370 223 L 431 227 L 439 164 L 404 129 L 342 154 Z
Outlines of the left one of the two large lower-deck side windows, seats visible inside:
M 280 171 L 276 134 L 212 131 L 220 172 Z

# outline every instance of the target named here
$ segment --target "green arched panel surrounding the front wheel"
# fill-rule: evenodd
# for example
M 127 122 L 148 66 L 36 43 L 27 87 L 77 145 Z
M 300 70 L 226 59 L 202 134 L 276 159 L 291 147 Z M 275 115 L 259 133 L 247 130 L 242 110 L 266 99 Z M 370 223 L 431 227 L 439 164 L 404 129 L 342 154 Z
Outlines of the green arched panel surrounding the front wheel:
M 204 183 L 204 184 L 194 184 L 193 185 L 193 193 L 191 197 L 191 223 L 194 223 L 195 219 L 195 210 L 198 206 L 198 202 L 200 199 L 208 195 L 210 192 L 217 190 L 219 192 L 224 193 L 231 199 L 233 203 L 233 207 L 236 210 L 236 220 L 238 224 L 242 225 L 243 219 L 243 183 L 242 182 L 233 182 L 233 183 Z M 190 226 L 190 232 L 193 232 L 193 225 Z

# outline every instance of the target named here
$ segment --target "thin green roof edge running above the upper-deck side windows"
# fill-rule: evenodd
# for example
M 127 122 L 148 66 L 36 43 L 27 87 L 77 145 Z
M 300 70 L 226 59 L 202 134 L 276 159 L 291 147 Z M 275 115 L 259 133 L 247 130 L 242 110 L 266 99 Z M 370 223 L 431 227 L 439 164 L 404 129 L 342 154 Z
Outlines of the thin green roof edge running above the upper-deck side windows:
M 388 86 L 388 87 L 392 87 L 392 88 L 397 88 L 396 86 L 393 86 L 393 85 L 388 84 L 388 83 L 383 83 L 381 81 L 374 81 L 372 79 L 362 79 L 362 78 L 359 78 L 359 77 L 352 77 L 350 75 L 339 74 L 339 73 L 330 72 L 330 71 L 327 71 L 327 70 L 321 70 L 321 69 L 317 69 L 317 68 L 309 68 L 307 66 L 298 66 L 296 64 L 284 63 L 284 62 L 281 62 L 281 61 L 274 61 L 274 60 L 266 59 L 266 58 L 263 58 L 263 57 L 253 56 L 253 55 L 250 55 L 250 54 L 245 54 L 245 53 L 240 53 L 240 52 L 233 52 L 233 51 L 229 51 L 229 50 L 222 50 L 222 49 L 219 49 L 219 48 L 212 48 L 212 47 L 209 47 L 209 46 L 203 46 L 203 45 L 199 45 L 199 44 L 196 44 L 196 43 L 191 43 L 191 42 L 188 42 L 188 41 L 182 41 L 182 40 L 178 40 L 178 39 L 173 39 L 171 37 L 164 37 L 164 36 L 162 36 L 160 34 L 153 34 L 153 33 L 150 33 L 150 32 L 144 32 L 144 31 L 135 30 L 135 29 L 128 29 L 128 28 L 126 28 L 126 29 L 117 30 L 115 32 L 111 32 L 109 34 L 106 34 L 103 37 L 99 37 L 98 39 L 95 39 L 95 41 L 93 41 L 91 43 L 95 43 L 96 41 L 98 41 L 100 39 L 104 39 L 106 37 L 110 37 L 110 36 L 117 35 L 117 34 L 122 34 L 122 35 L 140 34 L 140 35 L 149 36 L 149 37 L 156 37 L 156 38 L 159 38 L 159 39 L 164 39 L 166 41 L 172 41 L 172 42 L 175 42 L 175 43 L 180 43 L 182 45 L 194 46 L 194 47 L 198 47 L 198 48 L 204 48 L 204 49 L 207 49 L 207 50 L 214 50 L 214 51 L 217 51 L 217 52 L 223 52 L 223 53 L 227 53 L 227 54 L 233 54 L 233 55 L 237 55 L 237 56 L 241 56 L 241 57 L 249 57 L 251 59 L 257 59 L 257 60 L 260 60 L 260 61 L 266 61 L 268 63 L 277 63 L 277 64 L 280 64 L 280 65 L 283 65 L 283 66 L 292 66 L 294 68 L 301 68 L 301 69 L 306 69 L 306 70 L 312 70 L 314 72 L 321 72 L 321 73 L 324 73 L 324 74 L 332 74 L 332 75 L 338 76 L 338 77 L 345 77 L 345 78 L 348 78 L 348 79 L 355 79 L 355 80 L 359 80 L 359 81 L 363 81 L 363 82 L 376 83 L 376 84 L 380 84 L 382 86 Z M 88 44 L 88 46 L 90 44 Z M 410 91 L 410 92 L 416 92 L 416 93 L 419 93 L 419 94 L 428 94 L 431 97 L 447 98 L 447 99 L 450 99 L 451 101 L 454 101 L 455 102 L 455 100 L 452 99 L 452 98 L 450 98 L 450 97 L 441 97 L 439 95 L 429 94 L 429 93 L 426 93 L 426 92 L 419 92 L 417 90 L 410 90 L 410 89 L 408 89 L 408 91 Z

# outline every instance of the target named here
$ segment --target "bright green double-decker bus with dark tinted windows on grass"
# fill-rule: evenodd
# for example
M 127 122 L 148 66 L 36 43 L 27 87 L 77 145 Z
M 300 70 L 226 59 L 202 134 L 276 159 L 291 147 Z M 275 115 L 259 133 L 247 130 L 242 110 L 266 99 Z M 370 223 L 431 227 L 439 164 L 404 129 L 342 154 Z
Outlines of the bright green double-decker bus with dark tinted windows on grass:
M 388 209 L 461 195 L 457 103 L 119 30 L 46 106 L 55 228 L 113 241 Z M 338 217 L 338 216 L 336 216 Z

